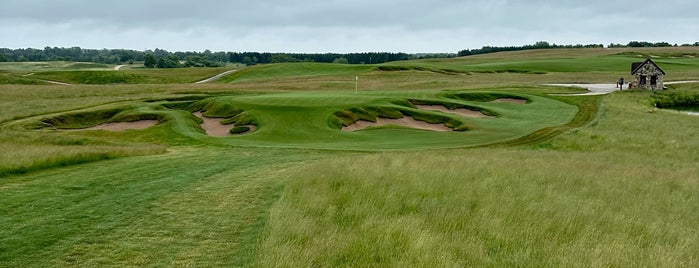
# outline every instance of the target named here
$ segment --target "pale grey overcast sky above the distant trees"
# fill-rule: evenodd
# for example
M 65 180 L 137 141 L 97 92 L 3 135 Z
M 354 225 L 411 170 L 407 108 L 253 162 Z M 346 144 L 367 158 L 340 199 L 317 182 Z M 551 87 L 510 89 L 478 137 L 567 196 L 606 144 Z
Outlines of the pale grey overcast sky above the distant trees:
M 693 0 L 2 0 L 0 47 L 451 52 L 699 41 Z

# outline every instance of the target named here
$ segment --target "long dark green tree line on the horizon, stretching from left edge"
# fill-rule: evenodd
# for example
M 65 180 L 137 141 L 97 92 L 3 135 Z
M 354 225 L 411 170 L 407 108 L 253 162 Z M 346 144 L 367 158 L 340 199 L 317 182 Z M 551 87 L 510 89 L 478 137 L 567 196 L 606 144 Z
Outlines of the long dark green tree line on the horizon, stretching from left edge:
M 345 64 L 376 64 L 423 58 L 455 57 L 456 54 L 407 54 L 391 52 L 368 53 L 264 53 L 264 52 L 169 52 L 164 49 L 84 49 L 80 47 L 45 47 L 44 49 L 0 48 L 0 62 L 76 61 L 103 64 L 143 62 L 149 68 L 217 67 L 227 63 L 255 65 L 281 62 L 323 62 Z

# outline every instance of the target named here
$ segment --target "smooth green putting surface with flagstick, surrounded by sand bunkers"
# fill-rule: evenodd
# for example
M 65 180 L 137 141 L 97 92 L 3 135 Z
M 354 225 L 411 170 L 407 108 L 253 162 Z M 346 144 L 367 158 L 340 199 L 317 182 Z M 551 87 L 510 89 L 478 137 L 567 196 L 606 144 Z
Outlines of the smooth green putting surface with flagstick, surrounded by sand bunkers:
M 498 102 L 515 98 L 526 103 Z M 494 117 L 468 118 L 453 113 L 421 110 L 412 102 L 463 106 L 494 114 Z M 123 104 L 122 104 L 123 105 Z M 88 113 L 106 110 L 94 107 Z M 111 107 L 110 109 L 115 109 Z M 405 116 L 449 121 L 456 130 L 436 132 L 396 125 L 342 131 L 335 117 L 338 112 L 391 110 Z M 192 112 L 204 110 L 211 117 L 229 122 L 254 124 L 252 133 L 211 137 L 198 127 Z M 577 107 L 543 96 L 510 92 L 408 91 L 408 92 L 293 92 L 211 97 L 199 101 L 130 103 L 124 111 L 103 121 L 129 121 L 138 118 L 161 120 L 168 128 L 193 140 L 209 144 L 254 147 L 312 148 L 331 150 L 410 150 L 479 146 L 516 139 L 539 129 L 570 122 Z M 400 116 L 400 113 L 398 114 Z M 57 115 L 52 115 L 54 118 Z M 375 116 L 375 115 L 374 115 Z M 380 116 L 380 115 L 379 115 Z M 83 118 L 85 116 L 78 116 Z M 361 117 L 361 114 L 360 114 Z M 366 117 L 366 116 L 364 116 Z M 51 118 L 49 116 L 48 118 Z M 242 118 L 242 119 L 241 119 Z M 435 119 L 436 118 L 436 119 Z M 36 119 L 35 119 L 36 120 Z M 47 117 L 39 118 L 46 127 Z M 53 121 L 66 121 L 65 119 Z M 355 120 L 356 121 L 356 120 Z M 97 124 L 95 122 L 93 124 Z M 100 122 L 101 123 L 101 122 Z M 83 122 L 82 125 L 85 123 Z M 56 126 L 49 126 L 56 127 Z M 139 130 L 149 131 L 149 130 Z M 89 134 L 89 132 L 86 132 Z M 129 132 L 123 135 L 128 135 Z M 120 134 L 122 135 L 122 134 Z

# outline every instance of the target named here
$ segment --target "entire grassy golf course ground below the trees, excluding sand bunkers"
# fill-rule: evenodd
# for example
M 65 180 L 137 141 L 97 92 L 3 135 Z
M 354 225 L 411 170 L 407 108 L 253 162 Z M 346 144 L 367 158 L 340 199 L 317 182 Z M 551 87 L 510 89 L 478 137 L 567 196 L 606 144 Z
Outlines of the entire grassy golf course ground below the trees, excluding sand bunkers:
M 629 79 L 646 56 L 699 80 L 697 52 L 285 63 L 196 85 L 230 68 L 1 65 L 0 266 L 696 267 L 699 117 L 541 84 Z M 257 129 L 207 136 L 196 111 Z M 398 115 L 454 131 L 340 130 Z M 159 124 L 84 129 L 143 119 Z

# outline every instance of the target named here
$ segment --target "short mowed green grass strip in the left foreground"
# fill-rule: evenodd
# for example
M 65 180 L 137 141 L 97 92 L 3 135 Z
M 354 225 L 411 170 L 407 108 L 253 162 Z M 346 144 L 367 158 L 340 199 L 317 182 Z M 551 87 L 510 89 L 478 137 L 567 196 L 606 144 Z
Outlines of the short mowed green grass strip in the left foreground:
M 0 263 L 247 266 L 285 170 L 304 159 L 176 149 L 3 178 Z

